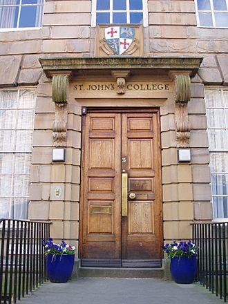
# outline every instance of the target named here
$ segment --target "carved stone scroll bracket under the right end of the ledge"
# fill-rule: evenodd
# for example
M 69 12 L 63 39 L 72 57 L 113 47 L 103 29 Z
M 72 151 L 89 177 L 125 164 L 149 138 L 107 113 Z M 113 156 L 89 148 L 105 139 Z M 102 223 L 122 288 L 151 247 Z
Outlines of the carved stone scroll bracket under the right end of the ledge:
M 188 74 L 174 74 L 175 84 L 175 128 L 177 147 L 188 148 L 191 124 L 188 117 L 188 102 L 191 99 L 191 79 Z

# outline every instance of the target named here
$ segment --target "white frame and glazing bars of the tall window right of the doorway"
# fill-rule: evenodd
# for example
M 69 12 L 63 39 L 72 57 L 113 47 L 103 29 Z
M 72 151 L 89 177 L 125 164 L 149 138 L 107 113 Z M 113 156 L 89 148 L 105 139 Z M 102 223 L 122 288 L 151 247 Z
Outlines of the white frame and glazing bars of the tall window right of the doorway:
M 222 99 L 222 106 L 207 106 L 207 93 L 206 91 L 209 90 L 220 90 L 221 93 L 221 99 Z M 225 106 L 225 97 L 224 97 L 224 91 L 228 92 L 228 88 L 221 87 L 221 86 L 210 86 L 210 87 L 205 87 L 205 106 L 206 106 L 206 117 L 207 117 L 207 135 L 209 137 L 209 132 L 208 130 L 225 130 L 226 134 L 228 135 L 228 124 L 227 124 L 227 119 L 225 115 L 225 111 L 228 111 L 228 106 Z M 224 115 L 224 120 L 225 120 L 225 125 L 223 127 L 211 127 L 209 126 L 209 116 L 208 116 L 208 109 L 222 109 L 223 115 Z M 209 154 L 210 154 L 210 163 L 211 163 L 211 153 L 227 153 L 228 155 L 228 140 L 227 140 L 227 149 L 210 149 L 209 147 Z M 224 218 L 216 218 L 215 217 L 215 210 L 214 210 L 214 205 L 213 205 L 213 198 L 222 198 L 222 197 L 227 197 L 228 198 L 228 193 L 227 194 L 213 194 L 213 188 L 212 188 L 212 177 L 213 175 L 228 175 L 228 171 L 211 171 L 211 165 L 209 164 L 210 167 L 210 180 L 211 180 L 211 198 L 212 198 L 212 208 L 213 208 L 213 222 L 224 222 L 228 221 L 228 216 Z M 228 207 L 228 206 L 227 206 Z

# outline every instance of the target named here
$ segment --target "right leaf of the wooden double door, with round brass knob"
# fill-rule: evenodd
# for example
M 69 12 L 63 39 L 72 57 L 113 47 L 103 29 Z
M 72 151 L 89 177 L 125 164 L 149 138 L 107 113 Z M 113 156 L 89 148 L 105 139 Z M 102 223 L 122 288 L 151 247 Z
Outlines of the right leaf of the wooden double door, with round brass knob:
M 129 175 L 129 214 L 122 220 L 122 258 L 160 258 L 160 156 L 158 115 L 122 116 L 122 168 Z M 155 193 L 157 189 L 158 193 Z M 159 244 L 159 245 L 158 245 Z

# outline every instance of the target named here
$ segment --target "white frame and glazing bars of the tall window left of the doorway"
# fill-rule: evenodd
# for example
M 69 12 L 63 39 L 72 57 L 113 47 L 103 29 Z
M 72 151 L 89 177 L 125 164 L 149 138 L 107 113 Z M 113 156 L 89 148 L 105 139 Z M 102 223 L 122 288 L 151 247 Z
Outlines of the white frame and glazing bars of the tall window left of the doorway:
M 29 169 L 29 173 L 15 173 L 15 158 L 17 158 L 17 154 L 23 154 L 23 155 L 30 155 L 30 158 L 32 157 L 32 139 L 33 139 L 33 134 L 34 134 L 34 126 L 35 126 L 35 106 L 36 106 L 36 100 L 37 100 L 37 87 L 36 86 L 25 86 L 25 87 L 18 87 L 18 88 L 0 88 L 0 91 L 17 91 L 17 108 L 13 108 L 13 111 L 17 111 L 16 113 L 16 122 L 18 119 L 18 115 L 19 115 L 19 111 L 28 111 L 28 110 L 32 110 L 33 111 L 33 117 L 32 117 L 32 126 L 30 128 L 21 128 L 19 129 L 19 131 L 30 131 L 32 134 L 31 137 L 31 142 L 30 142 L 30 150 L 28 151 L 28 149 L 0 149 L 0 155 L 4 155 L 4 154 L 9 154 L 12 155 L 12 172 L 11 173 L 2 173 L 2 171 L 0 172 L 0 176 L 4 176 L 4 175 L 11 175 L 10 176 L 10 196 L 8 195 L 1 195 L 0 193 L 0 199 L 4 199 L 7 198 L 10 200 L 10 206 L 9 206 L 9 216 L 8 218 L 12 218 L 12 211 L 10 210 L 10 207 L 12 207 L 12 202 L 13 200 L 16 198 L 21 198 L 22 199 L 26 199 L 29 200 L 30 194 L 29 194 L 29 185 L 30 182 L 28 183 L 28 189 L 27 189 L 27 195 L 23 195 L 23 196 L 15 196 L 13 189 L 14 186 L 14 182 L 15 182 L 15 176 L 17 175 L 24 175 L 24 176 L 28 176 L 29 180 L 30 180 L 30 169 Z M 18 106 L 18 101 L 19 101 L 19 96 L 20 96 L 20 91 L 34 91 L 35 92 L 35 99 L 33 100 L 34 105 L 33 106 L 29 106 L 29 107 L 24 107 L 24 108 L 19 108 Z M 1 106 L 0 106 L 1 107 Z M 10 110 L 12 111 L 10 108 L 4 108 L 1 107 L 1 111 L 7 111 Z M 14 128 L 1 128 L 1 131 L 17 131 L 17 126 L 15 125 L 15 129 Z M 28 163 L 28 167 L 31 167 L 31 161 Z M 28 207 L 27 207 L 27 214 L 26 214 L 27 218 L 15 218 L 15 219 L 19 219 L 19 220 L 27 220 L 28 219 Z

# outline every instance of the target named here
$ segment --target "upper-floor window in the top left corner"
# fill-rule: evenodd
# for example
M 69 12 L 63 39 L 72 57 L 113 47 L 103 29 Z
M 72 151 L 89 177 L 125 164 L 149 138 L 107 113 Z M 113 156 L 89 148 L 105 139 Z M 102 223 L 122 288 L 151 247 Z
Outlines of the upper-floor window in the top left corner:
M 0 28 L 41 27 L 44 0 L 0 0 Z

